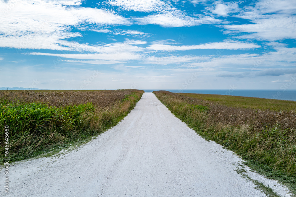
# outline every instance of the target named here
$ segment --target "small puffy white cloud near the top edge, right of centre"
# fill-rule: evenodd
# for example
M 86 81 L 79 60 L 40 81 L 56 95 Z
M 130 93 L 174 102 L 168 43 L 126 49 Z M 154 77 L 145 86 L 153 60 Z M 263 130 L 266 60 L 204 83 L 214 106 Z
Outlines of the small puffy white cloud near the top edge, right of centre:
M 239 8 L 236 2 L 222 3 L 221 1 L 217 1 L 214 6 L 207 8 L 207 10 L 218 16 L 226 17 L 230 13 L 238 12 Z

